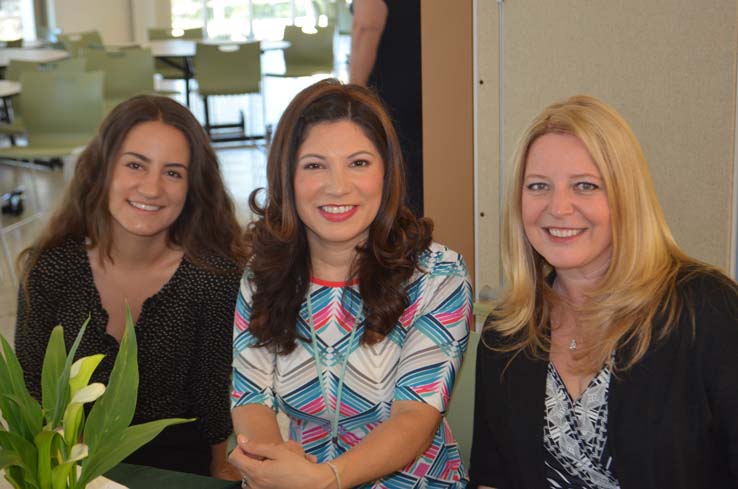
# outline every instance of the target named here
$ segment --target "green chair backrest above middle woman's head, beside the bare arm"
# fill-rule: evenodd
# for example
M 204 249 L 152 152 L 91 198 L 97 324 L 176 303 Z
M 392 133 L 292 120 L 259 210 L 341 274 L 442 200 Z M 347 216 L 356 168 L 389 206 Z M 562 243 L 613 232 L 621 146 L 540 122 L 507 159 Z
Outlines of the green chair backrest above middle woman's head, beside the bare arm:
M 290 43 L 284 50 L 287 73 L 331 73 L 333 71 L 333 34 L 335 26 L 318 27 L 315 33 L 305 33 L 294 25 L 284 27 L 282 38 Z

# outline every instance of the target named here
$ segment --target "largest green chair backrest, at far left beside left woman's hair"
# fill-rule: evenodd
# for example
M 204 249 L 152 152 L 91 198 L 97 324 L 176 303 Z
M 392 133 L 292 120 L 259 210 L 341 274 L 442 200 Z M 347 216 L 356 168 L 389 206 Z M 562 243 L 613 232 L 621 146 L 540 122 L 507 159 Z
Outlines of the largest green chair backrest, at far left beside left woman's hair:
M 21 84 L 29 146 L 69 148 L 94 137 L 104 114 L 102 72 L 29 71 Z

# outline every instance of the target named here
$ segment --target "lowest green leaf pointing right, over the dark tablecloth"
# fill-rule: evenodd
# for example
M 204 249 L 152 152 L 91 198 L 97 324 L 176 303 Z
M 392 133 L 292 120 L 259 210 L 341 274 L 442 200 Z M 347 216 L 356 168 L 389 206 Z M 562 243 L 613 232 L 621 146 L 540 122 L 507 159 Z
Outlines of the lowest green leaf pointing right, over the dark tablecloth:
M 90 456 L 82 462 L 82 474 L 77 487 L 84 487 L 92 479 L 103 475 L 123 461 L 137 449 L 153 440 L 167 426 L 189 423 L 193 419 L 160 419 L 126 428 L 117 439 L 105 439 Z

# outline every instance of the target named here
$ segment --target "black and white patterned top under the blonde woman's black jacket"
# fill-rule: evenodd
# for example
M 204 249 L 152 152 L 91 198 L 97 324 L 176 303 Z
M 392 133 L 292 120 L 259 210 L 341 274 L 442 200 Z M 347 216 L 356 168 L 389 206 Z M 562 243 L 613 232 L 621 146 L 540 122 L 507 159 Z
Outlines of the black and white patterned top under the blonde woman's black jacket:
M 610 375 L 603 367 L 575 401 L 554 364 L 548 364 L 543 444 L 549 487 L 619 489 L 607 449 Z

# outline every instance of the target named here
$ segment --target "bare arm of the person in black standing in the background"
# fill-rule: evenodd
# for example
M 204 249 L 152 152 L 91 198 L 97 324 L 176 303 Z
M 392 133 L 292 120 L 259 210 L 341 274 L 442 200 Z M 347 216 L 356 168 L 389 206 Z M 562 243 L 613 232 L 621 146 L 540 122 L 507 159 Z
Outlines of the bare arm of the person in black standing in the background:
M 387 22 L 387 5 L 383 0 L 354 0 L 351 26 L 351 59 L 349 80 L 366 85 L 377 58 L 377 47 Z

